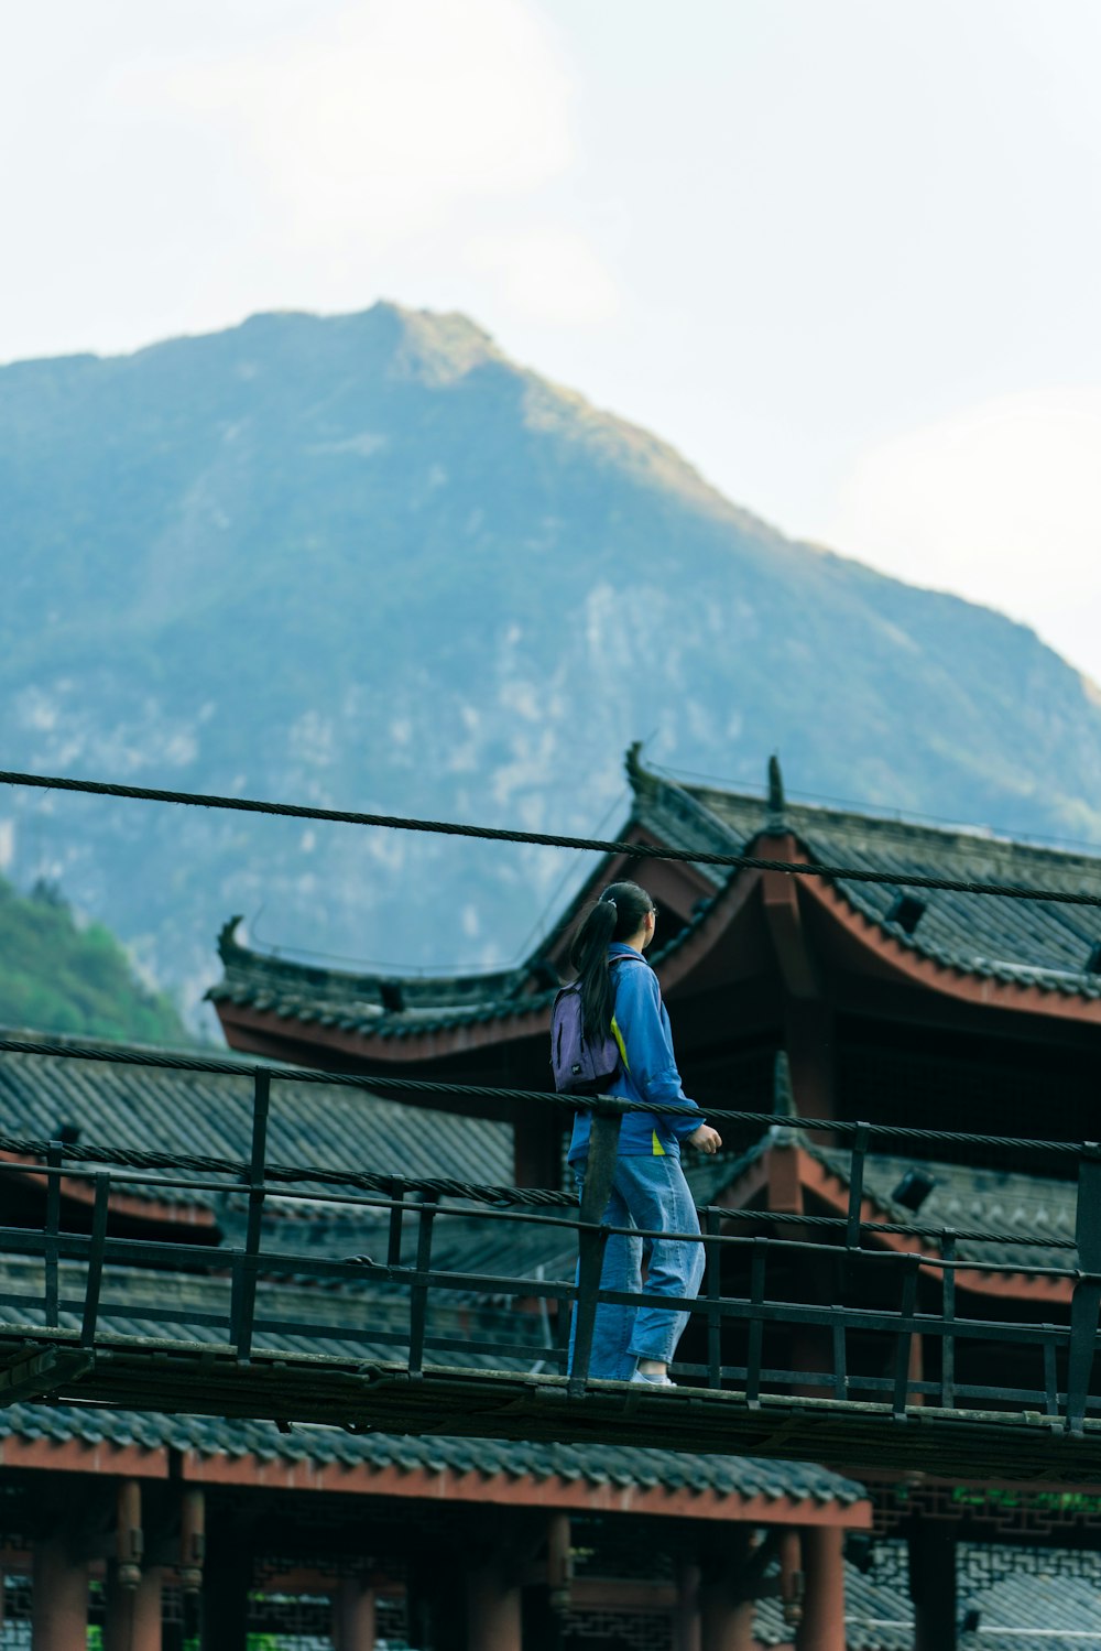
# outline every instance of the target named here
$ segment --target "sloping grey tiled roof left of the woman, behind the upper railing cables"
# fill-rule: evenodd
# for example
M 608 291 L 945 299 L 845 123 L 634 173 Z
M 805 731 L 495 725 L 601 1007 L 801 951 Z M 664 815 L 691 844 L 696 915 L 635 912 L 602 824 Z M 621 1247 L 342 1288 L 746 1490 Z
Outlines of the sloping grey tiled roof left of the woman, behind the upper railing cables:
M 3 1053 L 0 1129 L 45 1139 L 69 1123 L 83 1141 L 102 1147 L 248 1161 L 254 1068 L 254 1058 L 241 1060 L 241 1076 L 233 1078 Z M 274 1164 L 512 1182 L 508 1124 L 419 1111 L 411 1128 L 408 1108 L 370 1090 L 295 1083 L 292 1067 L 272 1067 L 272 1078 L 267 1157 Z

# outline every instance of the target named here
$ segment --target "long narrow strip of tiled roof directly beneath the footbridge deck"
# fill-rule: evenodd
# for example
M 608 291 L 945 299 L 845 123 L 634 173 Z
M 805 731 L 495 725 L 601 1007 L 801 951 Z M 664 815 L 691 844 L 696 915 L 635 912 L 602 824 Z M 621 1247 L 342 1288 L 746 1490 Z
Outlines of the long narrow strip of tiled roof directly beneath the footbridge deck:
M 71 1438 L 175 1448 L 205 1456 L 256 1456 L 261 1461 L 314 1461 L 375 1468 L 424 1468 L 454 1473 L 503 1473 L 535 1483 L 571 1479 L 591 1486 L 621 1484 L 711 1491 L 720 1496 L 792 1497 L 848 1507 L 867 1493 L 852 1479 L 809 1463 L 754 1456 L 695 1456 L 680 1451 L 612 1445 L 540 1445 L 474 1438 L 409 1438 L 388 1433 L 345 1433 L 338 1428 L 295 1425 L 281 1433 L 271 1422 L 228 1422 L 215 1417 L 168 1417 L 145 1412 L 94 1410 L 64 1405 L 12 1405 L 0 1410 L 0 1438 Z

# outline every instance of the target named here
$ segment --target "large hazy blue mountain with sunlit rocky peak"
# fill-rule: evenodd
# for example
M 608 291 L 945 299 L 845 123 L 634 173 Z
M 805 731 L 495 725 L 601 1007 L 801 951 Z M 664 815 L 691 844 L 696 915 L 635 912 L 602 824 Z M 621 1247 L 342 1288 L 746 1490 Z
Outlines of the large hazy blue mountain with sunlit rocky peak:
M 797 454 L 792 456 L 792 464 Z M 0 370 L 8 769 L 589 832 L 621 761 L 1101 840 L 1101 695 L 1033 632 L 794 543 L 461 315 L 258 315 Z M 195 1001 L 259 944 L 507 961 L 576 859 L 8 791 Z

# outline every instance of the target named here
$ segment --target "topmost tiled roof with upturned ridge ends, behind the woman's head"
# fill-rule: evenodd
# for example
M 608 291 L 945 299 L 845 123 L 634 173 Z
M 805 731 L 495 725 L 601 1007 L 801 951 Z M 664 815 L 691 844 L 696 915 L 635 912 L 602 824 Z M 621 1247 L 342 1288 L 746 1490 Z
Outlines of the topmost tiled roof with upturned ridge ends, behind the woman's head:
M 677 784 L 644 769 L 634 753 L 627 773 L 634 788 L 632 824 L 672 849 L 743 854 L 751 852 L 766 830 L 792 832 L 809 859 L 853 870 L 1101 895 L 1101 857 L 1015 844 L 982 830 L 938 829 L 776 796 L 769 802 L 713 786 Z M 700 870 L 716 893 L 731 877 L 725 867 Z M 893 915 L 905 885 L 840 880 L 835 887 L 857 911 L 916 956 L 966 974 L 1101 997 L 1101 974 L 1086 967 L 1091 949 L 1101 941 L 1096 908 L 919 890 L 914 895 L 923 910 L 911 931 Z M 683 946 L 705 916 L 706 905 L 702 905 L 667 951 Z M 403 1038 L 536 1012 L 553 997 L 540 956 L 497 974 L 391 981 L 262 956 L 238 943 L 233 923 L 223 930 L 220 951 L 224 974 L 208 994 L 213 1002 L 248 1005 L 371 1038 Z M 654 961 L 660 963 L 660 953 Z

